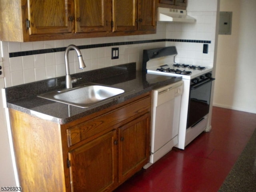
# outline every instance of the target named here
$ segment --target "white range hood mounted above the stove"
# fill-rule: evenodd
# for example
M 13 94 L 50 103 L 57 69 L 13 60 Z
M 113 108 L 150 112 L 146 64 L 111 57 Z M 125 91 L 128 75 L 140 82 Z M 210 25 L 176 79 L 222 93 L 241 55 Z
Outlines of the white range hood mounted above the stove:
M 188 16 L 186 10 L 158 7 L 157 21 L 193 23 L 196 19 Z

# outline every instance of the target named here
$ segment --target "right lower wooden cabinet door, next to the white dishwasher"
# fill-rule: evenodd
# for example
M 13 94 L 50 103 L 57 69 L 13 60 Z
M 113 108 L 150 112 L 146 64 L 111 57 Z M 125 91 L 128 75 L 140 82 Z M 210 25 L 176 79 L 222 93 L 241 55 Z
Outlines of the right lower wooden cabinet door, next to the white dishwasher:
M 140 170 L 149 158 L 149 112 L 119 128 L 119 182 Z

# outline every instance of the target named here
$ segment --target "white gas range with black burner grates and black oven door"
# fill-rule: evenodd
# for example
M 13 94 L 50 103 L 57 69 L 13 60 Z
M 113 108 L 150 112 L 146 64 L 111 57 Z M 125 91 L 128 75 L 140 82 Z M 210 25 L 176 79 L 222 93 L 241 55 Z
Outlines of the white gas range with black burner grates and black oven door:
M 210 92 L 214 78 L 210 67 L 175 63 L 177 54 L 175 46 L 144 50 L 142 70 L 150 74 L 182 76 L 184 87 L 176 147 L 184 149 L 208 126 Z

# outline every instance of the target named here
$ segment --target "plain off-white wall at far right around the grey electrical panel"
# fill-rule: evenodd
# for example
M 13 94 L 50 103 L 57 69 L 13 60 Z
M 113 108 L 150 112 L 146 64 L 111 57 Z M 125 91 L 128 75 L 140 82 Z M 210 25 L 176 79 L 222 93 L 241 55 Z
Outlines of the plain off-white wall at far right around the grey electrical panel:
M 231 35 L 218 36 L 214 106 L 256 113 L 256 1 L 220 0 Z

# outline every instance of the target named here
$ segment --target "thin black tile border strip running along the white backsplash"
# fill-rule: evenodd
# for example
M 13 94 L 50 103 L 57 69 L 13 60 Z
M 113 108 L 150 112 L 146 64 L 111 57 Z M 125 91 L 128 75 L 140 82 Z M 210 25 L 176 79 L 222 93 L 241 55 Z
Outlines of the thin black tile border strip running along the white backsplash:
M 155 40 L 127 41 L 127 42 L 114 42 L 114 43 L 81 45 L 81 46 L 78 46 L 78 48 L 79 49 L 90 49 L 90 48 L 98 48 L 98 47 L 110 47 L 110 46 L 142 44 L 142 43 L 154 43 L 154 42 L 166 42 L 166 41 L 168 41 L 168 42 L 190 42 L 190 43 L 211 43 L 211 41 L 206 41 L 206 40 L 155 39 Z M 9 58 L 27 56 L 27 55 L 62 52 L 62 51 L 65 51 L 65 50 L 66 50 L 66 47 L 60 47 L 60 48 L 40 49 L 40 50 L 31 50 L 31 51 L 11 52 L 11 53 L 9 53 Z

